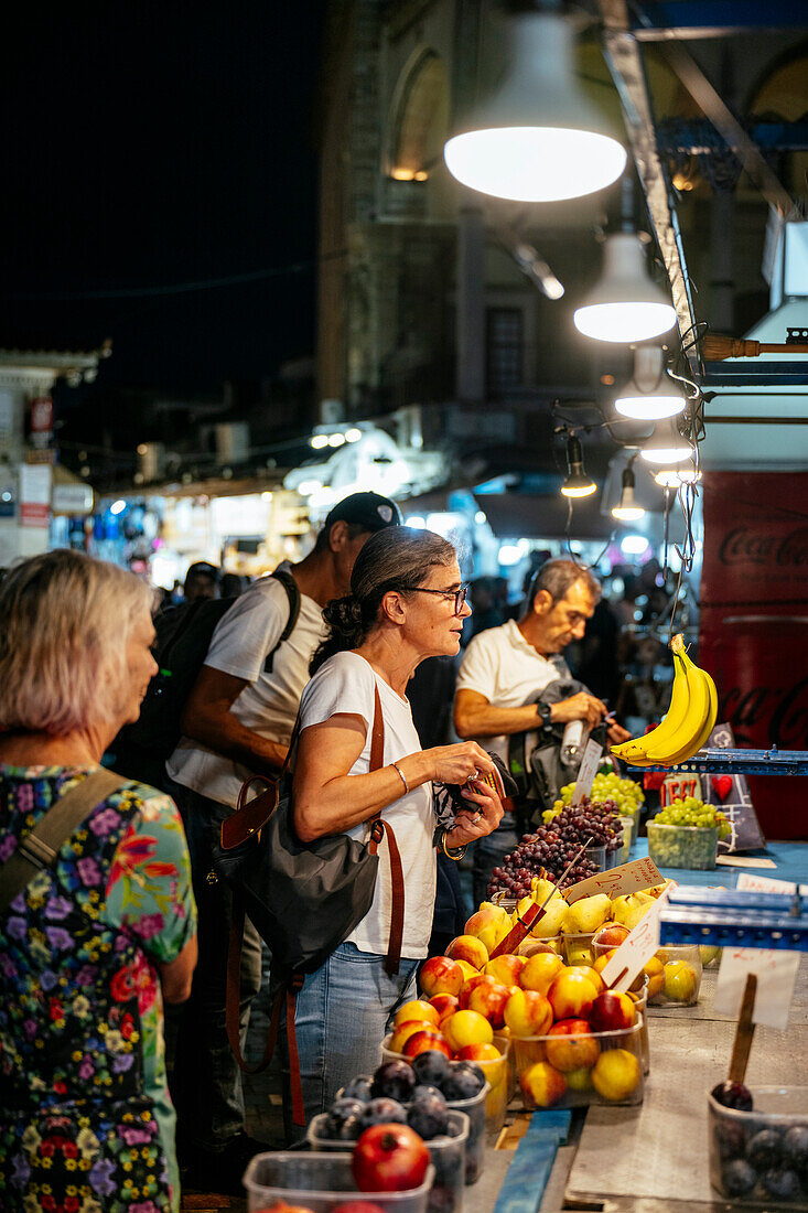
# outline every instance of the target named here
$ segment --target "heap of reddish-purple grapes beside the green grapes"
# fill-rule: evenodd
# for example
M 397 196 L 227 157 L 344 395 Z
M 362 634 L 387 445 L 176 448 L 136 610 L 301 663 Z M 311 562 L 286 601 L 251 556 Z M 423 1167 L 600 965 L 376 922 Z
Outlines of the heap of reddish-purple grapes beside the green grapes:
M 547 811 L 553 813 L 552 809 Z M 570 884 L 597 876 L 608 856 L 622 845 L 622 826 L 615 814 L 613 801 L 596 804 L 585 798 L 575 808 L 562 808 L 550 822 L 523 835 L 518 847 L 494 869 L 488 884 L 489 900 L 497 894 L 516 901 L 528 896 L 531 879 L 541 875 L 542 869 L 547 879 L 554 883 L 587 839 L 598 848 L 597 859 L 584 854 L 559 889 L 563 893 Z M 599 848 L 604 848 L 603 852 Z

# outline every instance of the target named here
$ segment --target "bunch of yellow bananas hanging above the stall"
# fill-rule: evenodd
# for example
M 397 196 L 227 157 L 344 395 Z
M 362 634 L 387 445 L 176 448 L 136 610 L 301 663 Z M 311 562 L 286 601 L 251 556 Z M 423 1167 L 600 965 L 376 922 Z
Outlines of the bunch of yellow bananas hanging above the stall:
M 718 693 L 705 670 L 690 661 L 684 637 L 671 640 L 673 689 L 671 706 L 661 724 L 642 738 L 632 738 L 611 753 L 632 767 L 676 767 L 701 750 L 716 724 Z

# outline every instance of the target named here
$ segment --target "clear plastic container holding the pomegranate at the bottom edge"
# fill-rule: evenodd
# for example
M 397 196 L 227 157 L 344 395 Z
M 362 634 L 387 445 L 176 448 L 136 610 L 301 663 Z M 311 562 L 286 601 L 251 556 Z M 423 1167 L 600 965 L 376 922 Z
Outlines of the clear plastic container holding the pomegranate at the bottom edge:
M 421 1186 L 409 1192 L 358 1192 L 348 1155 L 294 1150 L 257 1154 L 244 1173 L 249 1213 L 281 1213 L 289 1205 L 331 1213 L 348 1201 L 374 1205 L 385 1213 L 427 1213 L 433 1181 L 431 1166 Z

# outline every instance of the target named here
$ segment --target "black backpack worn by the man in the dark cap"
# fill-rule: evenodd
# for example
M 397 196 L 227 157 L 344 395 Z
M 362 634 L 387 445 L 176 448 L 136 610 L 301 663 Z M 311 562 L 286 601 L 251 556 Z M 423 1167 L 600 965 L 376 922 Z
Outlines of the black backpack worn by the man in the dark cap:
M 289 619 L 278 643 L 263 664 L 272 671 L 275 653 L 291 636 L 300 614 L 300 590 L 290 573 L 272 574 L 286 591 Z M 169 606 L 154 620 L 154 660 L 158 672 L 149 683 L 133 724 L 125 724 L 109 747 L 109 765 L 127 779 L 137 779 L 153 787 L 165 780 L 165 763 L 173 752 L 182 729 L 180 722 L 186 702 L 205 664 L 216 625 L 231 609 L 235 598 L 200 598 L 180 606 Z

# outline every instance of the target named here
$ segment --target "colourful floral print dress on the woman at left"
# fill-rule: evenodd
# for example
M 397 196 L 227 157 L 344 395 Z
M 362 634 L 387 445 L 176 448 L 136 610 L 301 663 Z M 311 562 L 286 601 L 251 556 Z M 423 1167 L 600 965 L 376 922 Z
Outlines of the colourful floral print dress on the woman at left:
M 0 864 L 95 769 L 0 764 Z M 178 1208 L 157 966 L 195 924 L 177 809 L 135 782 L 0 915 L 0 1209 Z

